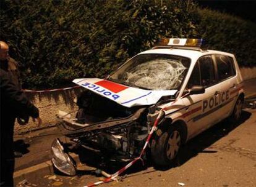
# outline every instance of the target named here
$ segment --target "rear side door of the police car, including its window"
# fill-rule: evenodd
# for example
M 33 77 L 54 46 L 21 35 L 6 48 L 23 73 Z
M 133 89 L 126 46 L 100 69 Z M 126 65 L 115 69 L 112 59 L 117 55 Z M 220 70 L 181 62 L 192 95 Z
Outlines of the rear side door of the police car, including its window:
M 236 73 L 234 70 L 234 62 L 232 62 L 230 58 L 226 55 L 213 55 L 218 76 L 217 86 L 220 92 L 216 97 L 216 103 L 218 105 L 216 115 L 221 116 L 219 121 L 229 116 L 233 109 L 234 102 L 236 101 L 234 99 L 236 95 L 233 94 L 233 90 L 237 87 Z

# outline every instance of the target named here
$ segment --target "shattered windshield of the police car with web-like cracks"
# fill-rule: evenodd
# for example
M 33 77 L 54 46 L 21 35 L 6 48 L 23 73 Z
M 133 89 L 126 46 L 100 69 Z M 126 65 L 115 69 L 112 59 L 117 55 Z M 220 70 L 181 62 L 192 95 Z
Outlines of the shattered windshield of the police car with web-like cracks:
M 179 89 L 190 65 L 189 58 L 142 54 L 130 59 L 109 80 L 150 90 Z

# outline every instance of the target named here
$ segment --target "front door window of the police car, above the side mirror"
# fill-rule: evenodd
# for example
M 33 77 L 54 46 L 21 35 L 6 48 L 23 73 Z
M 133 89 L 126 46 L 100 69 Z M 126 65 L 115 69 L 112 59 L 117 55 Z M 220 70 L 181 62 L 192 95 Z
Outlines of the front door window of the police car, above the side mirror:
M 211 56 L 205 56 L 199 59 L 202 86 L 208 87 L 216 82 L 215 69 Z

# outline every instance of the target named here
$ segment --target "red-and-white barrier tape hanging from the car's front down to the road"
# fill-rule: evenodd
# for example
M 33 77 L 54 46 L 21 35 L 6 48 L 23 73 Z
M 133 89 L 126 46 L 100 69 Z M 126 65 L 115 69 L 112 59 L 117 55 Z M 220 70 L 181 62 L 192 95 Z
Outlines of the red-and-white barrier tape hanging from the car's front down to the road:
M 160 111 L 160 113 L 158 114 L 158 116 L 156 117 L 156 120 L 154 122 L 154 125 L 152 127 L 152 129 L 150 130 L 150 133 L 148 135 L 148 138 L 147 138 L 147 141 L 142 149 L 142 151 L 140 152 L 140 156 L 139 157 L 136 157 L 133 161 L 131 161 L 129 164 L 127 164 L 126 166 L 124 166 L 122 169 L 118 170 L 116 173 L 114 173 L 113 175 L 111 175 L 110 177 L 106 178 L 105 180 L 103 181 L 98 181 L 96 183 L 92 183 L 92 184 L 89 184 L 87 186 L 83 186 L 83 187 L 93 187 L 93 186 L 97 186 L 97 185 L 100 185 L 100 184 L 103 184 L 103 183 L 108 183 L 110 181 L 114 181 L 114 180 L 117 180 L 116 178 L 122 173 L 124 172 L 125 170 L 127 170 L 130 166 L 134 165 L 135 162 L 141 160 L 143 162 L 143 159 L 142 159 L 142 155 L 145 153 L 145 149 L 147 148 L 148 146 L 148 142 L 150 141 L 150 138 L 153 134 L 153 132 L 156 130 L 156 126 L 158 125 L 158 122 L 160 121 L 160 118 L 161 116 L 164 114 L 164 111 L 163 109 Z

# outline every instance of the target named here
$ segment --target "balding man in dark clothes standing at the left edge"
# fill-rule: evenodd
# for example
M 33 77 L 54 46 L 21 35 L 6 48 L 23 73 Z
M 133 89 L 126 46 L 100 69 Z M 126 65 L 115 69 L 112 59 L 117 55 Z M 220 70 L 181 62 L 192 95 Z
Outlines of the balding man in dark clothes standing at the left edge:
M 25 97 L 15 76 L 9 71 L 9 46 L 0 41 L 1 90 L 1 178 L 0 186 L 14 186 L 14 122 L 19 116 L 31 116 L 41 124 L 38 108 Z

